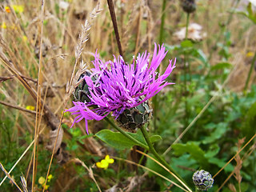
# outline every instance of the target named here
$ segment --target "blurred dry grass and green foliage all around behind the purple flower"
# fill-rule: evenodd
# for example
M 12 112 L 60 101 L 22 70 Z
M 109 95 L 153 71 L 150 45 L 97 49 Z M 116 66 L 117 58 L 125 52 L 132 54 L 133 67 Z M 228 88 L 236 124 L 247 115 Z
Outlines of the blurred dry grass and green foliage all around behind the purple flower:
M 23 174 L 33 191 L 43 191 L 48 170 L 49 192 L 182 191 L 138 166 L 173 179 L 150 158 L 95 137 L 111 129 L 106 122 L 91 121 L 89 135 L 84 122 L 70 129 L 74 116 L 62 117 L 62 111 L 72 106 L 66 89 L 71 75 L 81 61 L 90 69 L 97 49 L 103 61 L 113 59 L 118 45 L 106 1 L 43 2 L 0 4 L 0 162 L 7 171 L 18 162 L 10 177 L 21 186 Z M 196 9 L 187 13 L 190 3 Z M 127 63 L 145 50 L 152 53 L 154 42 L 169 51 L 160 73 L 177 58 L 168 78 L 175 85 L 152 101 L 149 130 L 162 137 L 154 144 L 158 152 L 191 189 L 192 174 L 203 169 L 214 176 L 209 191 L 256 191 L 256 2 L 116 0 L 114 8 Z M 114 163 L 95 166 L 107 154 Z M 2 182 L 5 176 L 0 173 L 0 191 L 18 191 L 10 179 Z

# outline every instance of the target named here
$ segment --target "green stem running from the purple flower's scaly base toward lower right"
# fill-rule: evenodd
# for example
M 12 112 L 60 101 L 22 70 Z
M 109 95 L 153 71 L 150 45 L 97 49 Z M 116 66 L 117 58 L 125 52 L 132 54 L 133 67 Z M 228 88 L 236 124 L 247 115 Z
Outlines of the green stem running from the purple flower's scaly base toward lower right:
M 150 141 L 150 136 L 146 131 L 146 126 L 142 126 L 141 130 L 142 130 L 142 134 L 144 136 L 144 138 L 146 139 L 146 143 L 147 145 L 150 147 L 149 151 L 150 153 L 154 154 L 154 157 L 158 159 L 159 162 L 162 163 L 163 166 L 166 166 L 166 168 L 168 170 L 170 170 L 173 174 L 175 174 L 183 183 L 184 180 L 176 173 L 176 171 L 166 162 L 166 160 L 164 160 L 159 154 L 158 152 L 154 149 L 154 146 L 152 144 L 152 142 Z

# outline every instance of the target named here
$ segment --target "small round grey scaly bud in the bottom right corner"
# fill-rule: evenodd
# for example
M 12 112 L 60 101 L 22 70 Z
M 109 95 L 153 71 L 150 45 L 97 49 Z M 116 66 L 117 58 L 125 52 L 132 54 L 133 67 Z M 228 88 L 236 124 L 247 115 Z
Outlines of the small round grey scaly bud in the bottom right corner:
M 208 190 L 214 184 L 214 179 L 206 170 L 197 170 L 192 179 L 198 190 Z

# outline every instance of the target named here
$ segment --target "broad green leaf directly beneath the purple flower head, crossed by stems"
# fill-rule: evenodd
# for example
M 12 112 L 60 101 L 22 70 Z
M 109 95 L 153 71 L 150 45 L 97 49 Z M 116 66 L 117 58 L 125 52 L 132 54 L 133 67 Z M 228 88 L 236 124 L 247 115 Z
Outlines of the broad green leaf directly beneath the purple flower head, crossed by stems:
M 143 137 L 142 131 L 138 130 L 136 134 L 128 133 L 130 136 L 138 140 L 139 142 L 142 142 L 143 144 L 146 144 L 146 140 Z M 113 146 L 115 149 L 118 150 L 124 150 L 124 149 L 130 149 L 133 146 L 136 146 L 137 144 L 133 141 L 131 141 L 129 138 L 126 138 L 123 134 L 119 132 L 113 132 L 111 130 L 101 130 L 97 134 L 95 134 L 97 138 L 101 139 L 102 142 L 106 142 L 106 144 Z M 161 140 L 160 135 L 152 135 L 150 137 L 151 142 L 158 142 Z

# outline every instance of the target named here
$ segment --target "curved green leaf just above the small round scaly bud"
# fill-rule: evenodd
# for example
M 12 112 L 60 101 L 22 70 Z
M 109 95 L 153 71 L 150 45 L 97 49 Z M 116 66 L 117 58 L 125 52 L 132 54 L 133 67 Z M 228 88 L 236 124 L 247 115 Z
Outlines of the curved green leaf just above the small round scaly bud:
M 191 158 L 194 158 L 201 166 L 207 166 L 207 158 L 205 158 L 205 152 L 195 142 L 187 142 L 186 144 L 174 144 L 174 154 L 181 156 L 184 153 L 190 154 Z

